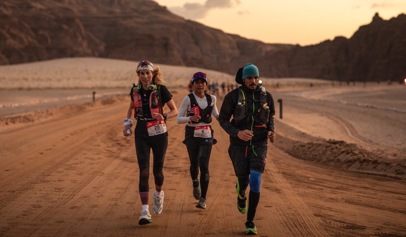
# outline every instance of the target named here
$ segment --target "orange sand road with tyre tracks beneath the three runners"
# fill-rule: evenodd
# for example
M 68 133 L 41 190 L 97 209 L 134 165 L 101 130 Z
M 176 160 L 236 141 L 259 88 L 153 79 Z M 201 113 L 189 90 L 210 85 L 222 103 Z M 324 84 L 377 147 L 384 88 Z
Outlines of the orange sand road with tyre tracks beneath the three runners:
M 179 105 L 186 92 L 174 95 Z M 194 207 L 184 125 L 171 120 L 164 211 L 138 225 L 134 137 L 122 134 L 127 100 L 66 107 L 52 120 L 0 131 L 0 236 L 244 235 L 228 135 L 216 122 L 207 210 Z M 405 204 L 403 180 L 303 161 L 269 144 L 255 224 L 260 236 L 404 236 Z

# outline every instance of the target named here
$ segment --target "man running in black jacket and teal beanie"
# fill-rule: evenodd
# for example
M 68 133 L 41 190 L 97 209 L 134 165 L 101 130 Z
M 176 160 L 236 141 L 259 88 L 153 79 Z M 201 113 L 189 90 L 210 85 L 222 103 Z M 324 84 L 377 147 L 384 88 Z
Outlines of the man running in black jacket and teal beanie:
M 229 156 L 237 176 L 237 208 L 247 213 L 246 233 L 257 235 L 254 224 L 259 202 L 259 186 L 265 168 L 268 142 L 276 141 L 275 108 L 272 95 L 259 87 L 258 68 L 247 63 L 238 70 L 235 81 L 242 86 L 230 91 L 220 109 L 220 126 L 230 135 Z M 233 119 L 230 122 L 230 118 Z M 248 208 L 245 191 L 250 185 Z

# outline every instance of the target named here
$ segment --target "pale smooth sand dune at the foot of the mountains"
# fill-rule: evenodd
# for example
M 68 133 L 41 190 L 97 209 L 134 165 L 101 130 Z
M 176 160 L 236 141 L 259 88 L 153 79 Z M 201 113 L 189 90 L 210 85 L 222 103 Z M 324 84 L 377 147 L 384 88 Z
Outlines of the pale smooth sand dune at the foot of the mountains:
M 127 88 L 137 62 L 102 58 L 65 58 L 0 66 L 0 89 L 28 88 Z M 162 65 L 166 84 L 172 88 L 185 88 L 193 73 L 203 71 L 211 83 L 233 83 L 235 75 L 199 67 Z M 281 87 L 292 85 L 330 85 L 330 81 L 303 78 L 261 78 L 265 85 Z

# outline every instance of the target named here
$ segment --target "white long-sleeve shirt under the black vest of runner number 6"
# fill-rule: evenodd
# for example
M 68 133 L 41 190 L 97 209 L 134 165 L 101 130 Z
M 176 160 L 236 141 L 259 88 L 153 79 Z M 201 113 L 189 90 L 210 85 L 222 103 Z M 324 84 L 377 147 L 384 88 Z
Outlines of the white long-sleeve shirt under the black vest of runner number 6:
M 193 92 L 193 96 L 196 99 L 197 104 L 199 104 L 199 107 L 201 109 L 206 109 L 206 107 L 207 107 L 206 96 L 204 96 L 203 98 L 200 98 L 194 92 Z M 217 110 L 217 107 L 216 107 L 216 96 L 213 96 L 213 95 L 210 95 L 210 96 L 212 97 L 212 103 L 213 103 L 212 115 L 214 117 L 216 117 L 218 115 L 218 110 Z M 189 98 L 189 96 L 185 96 L 185 98 L 183 98 L 182 103 L 181 103 L 181 105 L 179 107 L 178 115 L 176 117 L 176 122 L 178 124 L 184 124 L 184 123 L 187 123 L 187 122 L 190 121 L 190 116 L 185 117 L 187 111 L 190 111 L 190 98 Z M 203 126 L 203 125 L 211 125 L 211 123 L 210 124 L 203 123 L 203 122 L 198 123 L 198 124 L 190 124 L 190 123 L 188 123 L 187 125 L 192 126 L 192 127 L 197 127 L 197 126 Z

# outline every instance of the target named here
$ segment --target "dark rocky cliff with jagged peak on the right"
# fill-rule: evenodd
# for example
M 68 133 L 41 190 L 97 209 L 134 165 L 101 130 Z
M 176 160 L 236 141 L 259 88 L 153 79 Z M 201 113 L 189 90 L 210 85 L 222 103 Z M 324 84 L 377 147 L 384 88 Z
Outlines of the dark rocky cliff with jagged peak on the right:
M 313 46 L 270 51 L 259 66 L 276 77 L 402 80 L 406 78 L 406 15 L 382 20 L 377 13 L 350 39 L 336 37 Z

